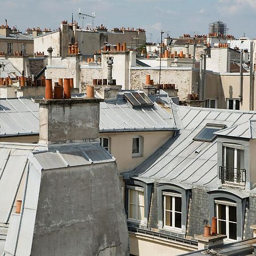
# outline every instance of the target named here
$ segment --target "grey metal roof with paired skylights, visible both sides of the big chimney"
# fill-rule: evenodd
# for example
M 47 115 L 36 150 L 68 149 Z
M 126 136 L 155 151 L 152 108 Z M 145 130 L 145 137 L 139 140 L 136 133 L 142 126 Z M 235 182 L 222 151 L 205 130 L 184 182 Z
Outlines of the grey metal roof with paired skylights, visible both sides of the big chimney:
M 167 94 L 150 98 L 154 106 L 140 109 L 133 109 L 122 95 L 101 102 L 100 132 L 175 129 Z M 0 137 L 39 134 L 38 104 L 28 98 L 0 98 L 0 125 Z

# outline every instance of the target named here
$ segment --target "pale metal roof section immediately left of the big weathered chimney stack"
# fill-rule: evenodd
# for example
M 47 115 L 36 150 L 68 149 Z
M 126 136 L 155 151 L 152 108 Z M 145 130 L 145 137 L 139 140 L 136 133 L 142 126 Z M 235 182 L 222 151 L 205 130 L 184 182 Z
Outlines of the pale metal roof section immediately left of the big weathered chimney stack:
M 0 137 L 39 133 L 39 108 L 27 98 L 0 99 Z

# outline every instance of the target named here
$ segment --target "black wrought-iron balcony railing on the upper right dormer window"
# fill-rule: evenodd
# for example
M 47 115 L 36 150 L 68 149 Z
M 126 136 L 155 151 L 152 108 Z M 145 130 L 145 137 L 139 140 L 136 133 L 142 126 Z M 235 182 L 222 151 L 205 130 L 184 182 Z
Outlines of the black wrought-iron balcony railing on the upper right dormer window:
M 220 166 L 219 178 L 222 184 L 245 187 L 245 169 Z

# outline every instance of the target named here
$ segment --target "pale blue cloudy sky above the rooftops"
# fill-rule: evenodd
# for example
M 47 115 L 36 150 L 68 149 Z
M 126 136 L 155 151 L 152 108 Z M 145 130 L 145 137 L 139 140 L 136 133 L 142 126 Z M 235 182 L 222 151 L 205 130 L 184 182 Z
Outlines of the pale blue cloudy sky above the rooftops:
M 1 23 L 19 30 L 40 26 L 56 29 L 61 20 L 74 19 L 81 26 L 78 11 L 96 13 L 94 26 L 141 27 L 159 40 L 160 30 L 171 31 L 171 37 L 185 34 L 207 34 L 208 24 L 216 20 L 227 23 L 229 34 L 239 38 L 245 32 L 256 38 L 256 0 L 0 0 Z M 92 23 L 85 19 L 84 24 Z

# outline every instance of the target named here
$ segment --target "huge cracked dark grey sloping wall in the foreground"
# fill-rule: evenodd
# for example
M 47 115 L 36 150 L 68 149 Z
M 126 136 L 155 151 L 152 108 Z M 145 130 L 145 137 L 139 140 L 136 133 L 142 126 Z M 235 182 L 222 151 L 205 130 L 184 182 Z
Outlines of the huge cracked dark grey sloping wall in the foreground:
M 129 255 L 114 162 L 42 171 L 31 255 Z

